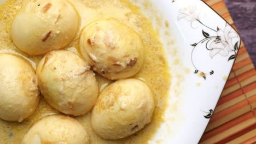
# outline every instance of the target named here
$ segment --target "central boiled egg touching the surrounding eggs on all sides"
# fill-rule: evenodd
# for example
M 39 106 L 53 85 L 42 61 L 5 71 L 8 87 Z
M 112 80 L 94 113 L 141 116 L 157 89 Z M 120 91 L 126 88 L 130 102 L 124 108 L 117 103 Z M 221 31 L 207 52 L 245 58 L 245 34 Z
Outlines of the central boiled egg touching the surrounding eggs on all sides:
M 90 65 L 76 53 L 51 51 L 37 68 L 40 91 L 62 113 L 83 115 L 96 103 L 98 84 Z

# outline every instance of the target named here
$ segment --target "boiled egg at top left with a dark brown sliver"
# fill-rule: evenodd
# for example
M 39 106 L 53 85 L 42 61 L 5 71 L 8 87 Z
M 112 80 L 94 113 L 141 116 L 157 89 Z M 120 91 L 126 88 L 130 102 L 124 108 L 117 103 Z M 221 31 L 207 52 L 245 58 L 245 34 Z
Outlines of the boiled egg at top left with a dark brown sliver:
M 29 55 L 41 55 L 71 43 L 79 27 L 77 10 L 66 0 L 30 1 L 11 26 L 13 43 Z

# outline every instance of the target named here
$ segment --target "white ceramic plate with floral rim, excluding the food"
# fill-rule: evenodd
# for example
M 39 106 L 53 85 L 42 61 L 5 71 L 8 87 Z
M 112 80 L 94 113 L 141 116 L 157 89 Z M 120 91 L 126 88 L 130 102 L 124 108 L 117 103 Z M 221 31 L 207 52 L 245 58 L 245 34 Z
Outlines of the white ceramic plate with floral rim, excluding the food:
M 133 3 L 159 30 L 172 75 L 165 122 L 149 143 L 197 143 L 230 74 L 240 36 L 199 0 Z

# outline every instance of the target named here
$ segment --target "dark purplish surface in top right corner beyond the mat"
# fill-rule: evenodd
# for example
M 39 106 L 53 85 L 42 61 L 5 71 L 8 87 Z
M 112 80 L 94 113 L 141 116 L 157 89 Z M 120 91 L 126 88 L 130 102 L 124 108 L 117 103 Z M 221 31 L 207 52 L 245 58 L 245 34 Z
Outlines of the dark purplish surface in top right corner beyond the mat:
M 256 65 L 256 0 L 224 0 L 246 49 Z

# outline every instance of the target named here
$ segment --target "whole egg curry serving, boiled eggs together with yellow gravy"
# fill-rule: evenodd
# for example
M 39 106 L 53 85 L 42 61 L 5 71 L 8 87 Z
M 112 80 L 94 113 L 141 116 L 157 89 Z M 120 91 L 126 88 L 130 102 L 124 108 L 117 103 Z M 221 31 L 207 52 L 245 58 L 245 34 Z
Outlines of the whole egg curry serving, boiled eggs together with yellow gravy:
M 128 0 L 0 5 L 0 143 L 148 143 L 170 74 Z

